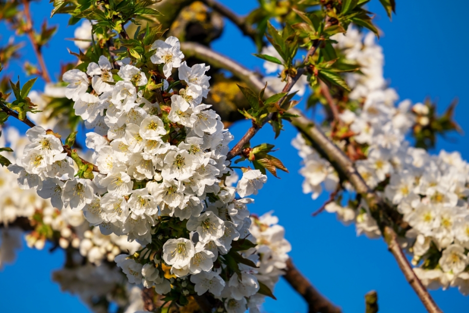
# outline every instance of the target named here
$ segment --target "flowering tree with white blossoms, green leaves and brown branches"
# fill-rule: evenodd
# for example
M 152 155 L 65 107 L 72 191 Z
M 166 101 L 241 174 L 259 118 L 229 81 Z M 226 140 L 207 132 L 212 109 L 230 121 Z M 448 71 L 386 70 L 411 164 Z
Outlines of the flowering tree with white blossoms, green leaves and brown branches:
M 394 0 L 380 1 L 391 18 Z M 213 0 L 52 2 L 51 17 L 80 24 L 60 82 L 41 50 L 56 28 L 36 32 L 28 0 L 0 2 L 36 53 L 26 73 L 46 83 L 0 84 L 0 264 L 26 232 L 31 247 L 66 250 L 54 279 L 96 312 L 259 312 L 280 276 L 309 312 L 341 312 L 295 268 L 277 217 L 248 210 L 267 176 L 288 172 L 272 143 L 250 141 L 291 123 L 303 191 L 330 193 L 317 213 L 383 237 L 428 312 L 441 310 L 426 288 L 469 293 L 469 166 L 427 152 L 458 129 L 454 104 L 442 116 L 430 102 L 395 104 L 368 1 L 259 1 L 247 17 Z M 255 42 L 270 76 L 210 48 L 223 18 Z M 19 49 L 1 47 L 5 68 Z M 234 138 L 240 119 L 252 126 Z M 366 312 L 376 301 L 366 296 Z

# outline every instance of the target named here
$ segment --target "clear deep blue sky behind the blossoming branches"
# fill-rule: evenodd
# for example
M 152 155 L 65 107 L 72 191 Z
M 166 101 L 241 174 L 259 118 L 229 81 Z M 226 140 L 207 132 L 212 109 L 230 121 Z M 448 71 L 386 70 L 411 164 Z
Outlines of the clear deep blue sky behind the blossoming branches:
M 49 17 L 52 6 L 47 2 L 32 3 L 36 28 Z M 246 14 L 256 6 L 254 0 L 223 2 L 238 14 Z M 392 22 L 385 16 L 378 0 L 372 0 L 369 9 L 377 13 L 376 21 L 384 32 L 380 39 L 386 63 L 384 76 L 396 88 L 401 100 L 408 98 L 421 102 L 430 96 L 438 99 L 439 109 L 443 111 L 458 97 L 456 121 L 463 129 L 468 129 L 469 66 L 466 57 L 469 45 L 465 20 L 469 2 L 451 1 L 449 7 L 436 0 L 397 0 L 397 15 L 393 16 Z M 44 48 L 45 62 L 50 74 L 56 77 L 61 62 L 74 58 L 66 51 L 67 46 L 76 51 L 73 43 L 63 40 L 73 37 L 74 28 L 66 26 L 65 16 L 56 16 L 50 23 L 60 24 L 54 39 Z M 0 34 L 4 43 L 11 32 L 0 25 Z M 253 69 L 262 68 L 262 63 L 251 55 L 255 52 L 253 44 L 229 22 L 223 37 L 213 44 L 213 48 Z M 29 44 L 23 54 L 25 59 L 36 63 Z M 20 63 L 13 64 L 7 71 L 17 75 L 19 66 Z M 42 86 L 38 80 L 37 88 L 41 90 Z M 239 138 L 248 126 L 249 122 L 241 122 L 232 127 L 235 138 Z M 292 243 L 290 255 L 298 268 L 344 312 L 364 312 L 363 296 L 370 290 L 378 291 L 381 313 L 425 312 L 383 240 L 357 237 L 353 226 L 344 227 L 332 214 L 311 217 L 311 212 L 322 205 L 326 196 L 312 201 L 309 195 L 301 192 L 300 158 L 290 146 L 295 135 L 295 130 L 286 125 L 286 131 L 275 142 L 280 147 L 277 157 L 290 174 L 281 173 L 281 179 L 269 176 L 268 184 L 256 196 L 256 204 L 250 206 L 251 211 L 262 214 L 275 210 L 286 229 L 286 238 Z M 468 137 L 456 134 L 449 137 L 449 140 L 439 140 L 436 151 L 459 150 L 463 158 L 469 159 Z M 274 142 L 270 129 L 262 130 L 256 136 L 255 143 L 261 142 Z M 61 293 L 58 285 L 51 281 L 50 272 L 61 268 L 62 264 L 61 251 L 49 254 L 46 249 L 23 249 L 19 252 L 17 262 L 0 271 L 0 311 L 88 312 L 77 298 Z M 283 280 L 278 283 L 275 294 L 278 300 L 268 299 L 264 306 L 266 312 L 306 312 L 305 303 Z M 454 288 L 431 294 L 445 312 L 468 312 L 469 298 Z

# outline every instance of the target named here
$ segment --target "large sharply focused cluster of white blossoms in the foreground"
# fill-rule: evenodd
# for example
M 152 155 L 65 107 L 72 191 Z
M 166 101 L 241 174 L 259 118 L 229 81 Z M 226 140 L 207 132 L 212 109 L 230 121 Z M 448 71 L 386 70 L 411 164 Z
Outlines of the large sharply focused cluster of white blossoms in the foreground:
M 256 220 L 251 228 L 247 204 L 253 200 L 244 197 L 257 194 L 267 177 L 247 170 L 236 188 L 225 184 L 234 174 L 226 160 L 233 136 L 210 105 L 202 104 L 209 67 L 182 62 L 175 37 L 152 48 L 151 62 L 166 78 L 158 91 L 166 103 L 146 87 L 160 78 L 129 58 L 114 62 L 101 56 L 86 72 L 63 75 L 64 95 L 94 129 L 86 133 L 94 175 L 60 136 L 41 126 L 26 132 L 29 143 L 8 169 L 18 174 L 21 189 L 36 189 L 54 208 L 83 212 L 93 229 L 82 233 L 76 248 L 90 262 L 109 260 L 117 245 L 129 251 L 115 257 L 129 283 L 160 294 L 210 292 L 224 303 L 221 310 L 258 312 L 262 281 L 273 289 L 290 250 L 274 218 Z M 173 68 L 178 82 L 170 78 Z M 117 236 L 143 248 L 133 253 Z M 261 246 L 254 248 L 249 238 Z

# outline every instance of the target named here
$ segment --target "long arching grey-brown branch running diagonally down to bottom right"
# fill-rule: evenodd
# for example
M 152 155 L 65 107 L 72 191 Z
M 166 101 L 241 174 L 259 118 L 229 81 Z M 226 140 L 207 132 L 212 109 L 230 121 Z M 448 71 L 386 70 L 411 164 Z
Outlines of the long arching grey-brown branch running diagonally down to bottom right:
M 264 83 L 262 83 L 262 81 L 256 77 L 254 72 L 244 68 L 235 61 L 210 50 L 207 47 L 191 44 L 186 45 L 185 48 L 188 50 L 190 48 L 196 48 L 197 51 L 194 52 L 194 54 L 198 59 L 211 64 L 212 59 L 215 60 L 215 67 L 220 67 L 232 72 L 237 78 L 250 86 L 258 86 L 256 88 L 257 91 L 264 87 Z M 266 95 L 268 96 L 269 94 L 272 95 L 271 92 L 266 90 Z M 373 218 L 376 219 L 380 227 L 384 241 L 388 246 L 388 250 L 396 259 L 399 268 L 403 272 L 407 282 L 414 289 L 415 293 L 417 293 L 417 296 L 422 301 L 426 310 L 430 313 L 441 313 L 442 311 L 440 308 L 438 308 L 431 295 L 428 293 L 426 288 L 422 285 L 420 279 L 412 270 L 412 267 L 410 266 L 403 250 L 399 246 L 397 241 L 397 234 L 390 225 L 392 219 L 389 217 L 390 215 L 393 216 L 393 211 L 395 210 L 389 208 L 389 206 L 387 206 L 387 204 L 384 203 L 384 201 L 366 185 L 362 176 L 354 167 L 353 162 L 338 146 L 332 143 L 318 127 L 315 126 L 313 121 L 307 119 L 298 109 L 292 108 L 288 112 L 294 115 L 298 115 L 296 118 L 291 118 L 292 125 L 294 125 L 306 138 L 309 139 L 312 146 L 318 150 L 320 155 L 328 160 L 340 175 L 346 177 L 354 186 L 357 193 L 360 193 L 362 198 L 366 200 Z

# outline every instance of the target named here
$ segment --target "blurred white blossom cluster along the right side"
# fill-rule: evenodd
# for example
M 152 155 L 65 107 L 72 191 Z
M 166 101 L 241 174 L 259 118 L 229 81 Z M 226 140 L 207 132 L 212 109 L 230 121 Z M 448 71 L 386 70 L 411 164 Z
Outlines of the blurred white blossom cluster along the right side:
M 369 187 L 377 188 L 389 204 L 403 215 L 404 232 L 400 238 L 404 248 L 413 254 L 414 269 L 430 289 L 457 286 L 469 294 L 469 166 L 458 152 L 441 151 L 429 155 L 414 148 L 405 135 L 415 123 L 428 123 L 428 107 L 411 105 L 406 100 L 395 106 L 398 96 L 387 88 L 383 78 L 382 48 L 374 35 L 364 37 L 351 29 L 337 35 L 337 46 L 347 59 L 361 64 L 361 74 L 347 74 L 352 101 L 362 103 L 354 112 L 344 110 L 341 123 L 354 133 L 355 142 L 367 147 L 366 159 L 355 162 Z M 332 166 L 305 144 L 298 135 L 293 141 L 303 158 L 300 173 L 305 177 L 303 190 L 321 192 L 337 188 L 338 176 Z M 338 143 L 341 146 L 341 143 Z M 350 186 L 345 186 L 352 190 Z M 366 204 L 359 207 L 332 202 L 325 209 L 337 214 L 345 224 L 356 223 L 357 233 L 376 238 L 381 236 L 376 221 Z

